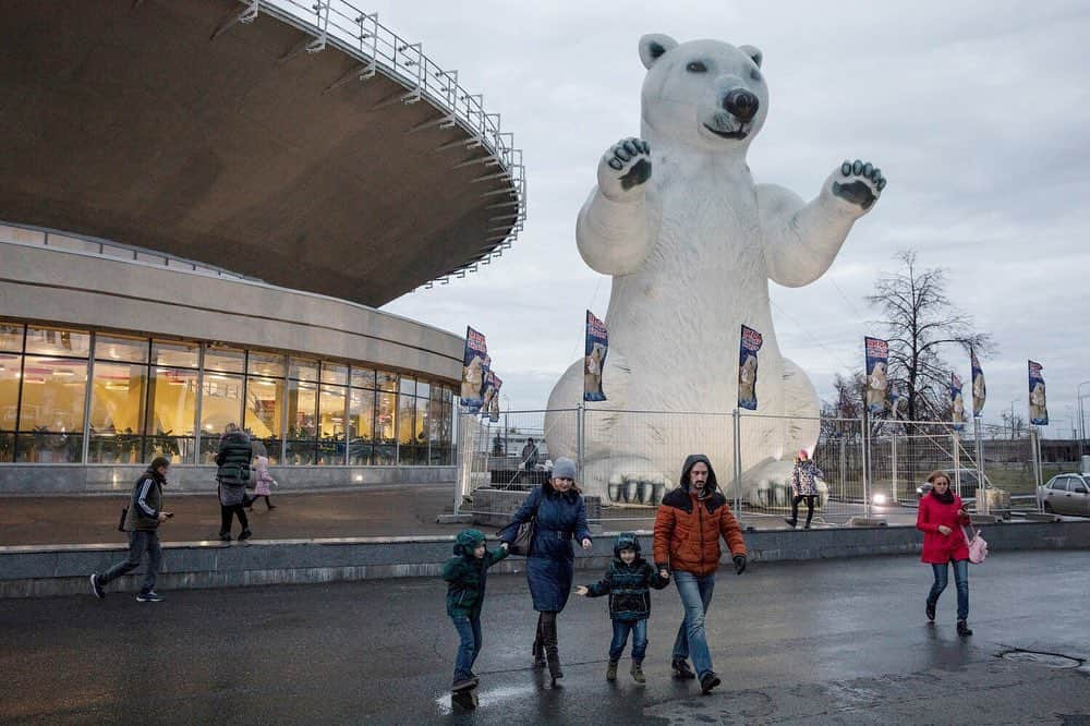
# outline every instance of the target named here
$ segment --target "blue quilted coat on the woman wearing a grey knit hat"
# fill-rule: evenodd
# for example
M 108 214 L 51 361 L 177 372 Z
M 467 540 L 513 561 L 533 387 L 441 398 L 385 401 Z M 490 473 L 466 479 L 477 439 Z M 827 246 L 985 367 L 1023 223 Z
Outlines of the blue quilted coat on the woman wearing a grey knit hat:
M 576 558 L 572 545 L 591 539 L 586 527 L 586 506 L 578 492 L 560 494 L 552 484 L 543 484 L 530 493 L 514 512 L 511 523 L 500 531 L 500 539 L 514 542 L 519 524 L 534 517 L 535 510 L 537 528 L 530 556 L 526 557 L 526 581 L 535 610 L 560 612 L 571 593 L 572 562 Z

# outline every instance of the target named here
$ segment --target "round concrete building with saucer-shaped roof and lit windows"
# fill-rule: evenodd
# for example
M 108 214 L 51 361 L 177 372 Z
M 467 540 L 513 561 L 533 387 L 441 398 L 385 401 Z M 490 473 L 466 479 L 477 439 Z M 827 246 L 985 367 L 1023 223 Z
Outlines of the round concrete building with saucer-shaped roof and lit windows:
M 502 254 L 521 154 L 354 2 L 4 4 L 0 494 L 453 480 L 462 338 L 376 310 Z

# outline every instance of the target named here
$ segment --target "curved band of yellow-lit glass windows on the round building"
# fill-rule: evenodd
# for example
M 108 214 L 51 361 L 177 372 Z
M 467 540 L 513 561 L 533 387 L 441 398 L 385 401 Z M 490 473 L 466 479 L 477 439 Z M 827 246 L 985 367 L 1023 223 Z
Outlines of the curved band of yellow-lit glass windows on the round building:
M 449 464 L 452 401 L 364 365 L 0 322 L 0 463 L 81 462 L 86 437 L 88 463 L 211 464 L 238 423 L 272 463 Z

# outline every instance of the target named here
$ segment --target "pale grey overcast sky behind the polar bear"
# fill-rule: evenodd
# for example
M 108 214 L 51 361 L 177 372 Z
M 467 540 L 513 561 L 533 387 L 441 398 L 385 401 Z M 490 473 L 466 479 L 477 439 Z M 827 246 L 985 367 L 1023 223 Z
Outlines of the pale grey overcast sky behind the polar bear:
M 1044 365 L 1051 436 L 1070 436 L 1090 379 L 1090 5 L 1077 2 L 545 2 L 378 0 L 368 8 L 471 93 L 523 149 L 525 231 L 474 275 L 384 310 L 483 331 L 512 409 L 544 404 L 582 350 L 583 311 L 610 280 L 576 250 L 600 155 L 639 133 L 637 40 L 715 38 L 764 52 L 770 112 L 758 182 L 812 198 L 846 158 L 889 180 L 828 273 L 771 283 L 784 353 L 828 397 L 881 329 L 863 300 L 894 255 L 949 270 L 949 297 L 991 332 L 985 422 L 1026 415 L 1026 360 Z M 947 360 L 969 379 L 967 356 Z M 1083 387 L 1090 394 L 1090 385 Z M 968 400 L 968 387 L 966 388 Z M 505 400 L 505 403 L 507 401 Z M 1090 400 L 1087 401 L 1090 408 Z M 1090 411 L 1088 411 L 1090 413 Z M 1090 421 L 1088 421 L 1090 425 Z

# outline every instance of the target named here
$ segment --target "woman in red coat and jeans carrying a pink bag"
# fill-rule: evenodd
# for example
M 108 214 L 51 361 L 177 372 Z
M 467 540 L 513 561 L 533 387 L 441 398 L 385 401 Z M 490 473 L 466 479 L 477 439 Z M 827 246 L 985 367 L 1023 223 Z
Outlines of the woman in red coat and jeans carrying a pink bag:
M 935 605 L 949 582 L 947 562 L 954 564 L 954 582 L 957 585 L 957 634 L 971 636 L 966 620 L 969 617 L 969 545 L 965 541 L 962 524 L 969 523 L 969 515 L 961 504 L 961 497 L 950 492 L 950 477 L 944 471 L 932 472 L 928 476 L 931 493 L 920 499 L 920 510 L 916 516 L 916 529 L 923 532 L 922 561 L 931 565 L 935 583 L 928 595 L 928 619 L 934 622 Z

